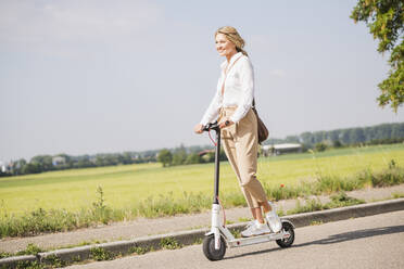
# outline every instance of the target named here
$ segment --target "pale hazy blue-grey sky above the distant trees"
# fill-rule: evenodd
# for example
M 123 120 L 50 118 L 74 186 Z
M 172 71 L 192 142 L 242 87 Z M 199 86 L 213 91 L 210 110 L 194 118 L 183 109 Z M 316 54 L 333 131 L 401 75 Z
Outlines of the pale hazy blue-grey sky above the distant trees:
M 236 27 L 270 137 L 404 121 L 354 0 L 0 0 L 0 161 L 209 144 L 214 33 Z

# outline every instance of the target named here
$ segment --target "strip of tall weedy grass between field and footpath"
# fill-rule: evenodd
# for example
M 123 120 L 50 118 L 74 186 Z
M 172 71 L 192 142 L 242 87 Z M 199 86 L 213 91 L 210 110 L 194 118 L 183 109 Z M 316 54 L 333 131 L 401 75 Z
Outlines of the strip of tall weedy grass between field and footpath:
M 381 171 L 373 172 L 370 169 L 363 170 L 357 175 L 340 178 L 318 175 L 314 181 L 303 181 L 298 185 L 264 185 L 269 200 L 286 200 L 306 197 L 310 195 L 331 194 L 341 191 L 353 191 L 365 187 L 380 188 L 404 183 L 404 168 L 399 167 L 392 159 L 388 167 Z M 240 192 L 222 193 L 226 207 L 245 206 L 245 200 Z M 311 207 L 318 207 L 316 201 L 308 202 Z M 321 205 L 332 208 L 333 204 Z M 340 201 L 339 203 L 348 203 Z M 181 197 L 174 197 L 173 193 L 149 197 L 138 202 L 131 208 L 114 209 L 105 204 L 104 191 L 101 187 L 97 190 L 97 200 L 88 208 L 78 212 L 65 209 L 46 210 L 38 208 L 25 215 L 0 214 L 0 238 L 29 236 L 43 232 L 68 231 L 78 228 L 97 225 L 108 225 L 112 221 L 123 221 L 137 217 L 155 218 L 173 216 L 176 214 L 200 213 L 211 207 L 212 197 L 202 193 L 184 192 Z M 323 209 L 326 209 L 324 207 Z M 302 207 L 300 210 L 304 210 Z

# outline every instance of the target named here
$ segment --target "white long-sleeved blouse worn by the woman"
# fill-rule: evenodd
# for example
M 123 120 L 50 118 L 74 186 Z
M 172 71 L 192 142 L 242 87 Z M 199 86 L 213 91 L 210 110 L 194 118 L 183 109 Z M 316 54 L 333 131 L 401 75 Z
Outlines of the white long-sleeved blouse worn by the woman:
M 236 62 L 237 61 L 237 62 Z M 226 82 L 225 72 L 229 66 Z M 254 98 L 254 72 L 248 56 L 241 52 L 231 56 L 230 63 L 225 61 L 220 65 L 222 74 L 217 82 L 216 93 L 200 121 L 206 125 L 217 119 L 220 107 L 237 106 L 230 120 L 238 123 L 243 118 L 252 106 Z M 225 82 L 224 94 L 222 95 L 222 86 Z

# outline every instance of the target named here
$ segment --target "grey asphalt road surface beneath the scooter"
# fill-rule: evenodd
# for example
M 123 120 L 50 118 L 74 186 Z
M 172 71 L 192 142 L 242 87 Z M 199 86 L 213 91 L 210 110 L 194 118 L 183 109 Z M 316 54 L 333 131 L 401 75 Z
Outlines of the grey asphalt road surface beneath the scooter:
M 404 268 L 404 210 L 295 230 L 290 248 L 275 242 L 227 249 L 207 260 L 201 245 L 70 268 Z

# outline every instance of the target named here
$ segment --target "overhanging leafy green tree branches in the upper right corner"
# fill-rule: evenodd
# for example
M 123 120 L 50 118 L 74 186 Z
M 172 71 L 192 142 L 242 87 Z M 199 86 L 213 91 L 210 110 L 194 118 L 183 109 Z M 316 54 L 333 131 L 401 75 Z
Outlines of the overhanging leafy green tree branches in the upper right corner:
M 380 53 L 391 52 L 389 77 L 378 85 L 380 106 L 391 105 L 396 113 L 404 102 L 404 2 L 403 0 L 359 0 L 351 18 L 365 22 Z

